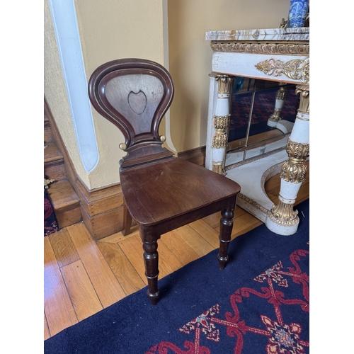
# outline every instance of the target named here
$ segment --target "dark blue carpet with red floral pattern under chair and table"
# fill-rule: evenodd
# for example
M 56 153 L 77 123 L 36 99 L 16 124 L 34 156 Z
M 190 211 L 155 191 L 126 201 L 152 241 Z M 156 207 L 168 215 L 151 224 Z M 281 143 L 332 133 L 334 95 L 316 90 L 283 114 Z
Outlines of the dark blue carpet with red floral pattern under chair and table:
M 309 200 L 299 229 L 264 224 L 237 237 L 219 270 L 217 250 L 44 343 L 59 353 L 309 353 Z

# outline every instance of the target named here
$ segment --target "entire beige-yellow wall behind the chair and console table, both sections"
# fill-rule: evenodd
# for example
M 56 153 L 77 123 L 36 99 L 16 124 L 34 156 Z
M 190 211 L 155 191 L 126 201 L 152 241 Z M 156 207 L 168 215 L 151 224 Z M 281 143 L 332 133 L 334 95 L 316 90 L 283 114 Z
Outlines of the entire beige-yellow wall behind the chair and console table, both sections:
M 206 139 L 212 57 L 205 32 L 278 28 L 281 18 L 287 18 L 289 4 L 290 0 L 75 0 L 87 79 L 99 65 L 123 57 L 164 64 L 176 89 L 170 110 L 173 145 L 177 152 L 200 147 Z M 164 37 L 167 23 L 169 42 Z M 81 180 L 90 189 L 118 182 L 122 135 L 94 110 L 100 159 L 91 173 L 81 164 L 47 0 L 44 64 L 45 96 Z M 164 126 L 163 120 L 162 133 Z

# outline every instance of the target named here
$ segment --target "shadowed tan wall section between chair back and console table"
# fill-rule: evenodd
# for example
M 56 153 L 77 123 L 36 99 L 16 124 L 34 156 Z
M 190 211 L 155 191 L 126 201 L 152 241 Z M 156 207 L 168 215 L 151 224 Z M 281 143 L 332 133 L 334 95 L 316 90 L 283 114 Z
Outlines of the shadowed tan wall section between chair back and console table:
M 212 50 L 208 30 L 278 28 L 290 0 L 169 0 L 171 139 L 178 152 L 205 145 Z

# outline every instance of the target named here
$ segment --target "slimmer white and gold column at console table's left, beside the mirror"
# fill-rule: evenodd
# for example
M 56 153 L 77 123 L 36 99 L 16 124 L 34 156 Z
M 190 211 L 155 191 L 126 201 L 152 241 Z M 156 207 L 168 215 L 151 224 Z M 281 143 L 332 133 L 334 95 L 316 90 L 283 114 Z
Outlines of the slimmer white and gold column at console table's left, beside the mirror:
M 224 162 L 230 121 L 230 97 L 234 86 L 234 76 L 215 75 L 217 81 L 217 104 L 214 114 L 215 133 L 212 137 L 212 171 L 225 174 Z

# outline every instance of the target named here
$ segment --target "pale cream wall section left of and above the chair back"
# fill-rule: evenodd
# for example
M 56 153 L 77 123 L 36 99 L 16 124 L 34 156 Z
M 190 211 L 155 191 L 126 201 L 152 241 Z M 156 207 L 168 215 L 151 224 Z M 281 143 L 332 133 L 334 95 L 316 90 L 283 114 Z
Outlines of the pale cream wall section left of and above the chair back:
M 96 67 L 113 59 L 141 57 L 164 64 L 163 4 L 161 0 L 75 0 L 87 80 Z M 45 96 L 76 172 L 89 189 L 119 181 L 118 161 L 124 142 L 118 128 L 93 110 L 99 161 L 87 173 L 74 136 L 67 93 L 59 62 L 50 9 L 45 0 Z

